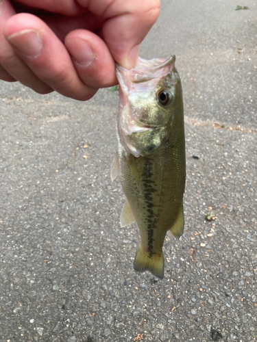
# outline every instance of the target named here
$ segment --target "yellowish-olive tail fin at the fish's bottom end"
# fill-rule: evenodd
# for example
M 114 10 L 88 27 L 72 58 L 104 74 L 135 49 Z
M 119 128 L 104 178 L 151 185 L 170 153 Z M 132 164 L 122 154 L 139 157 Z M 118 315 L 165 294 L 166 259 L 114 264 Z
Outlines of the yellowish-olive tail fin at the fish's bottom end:
M 136 251 L 136 257 L 134 259 L 134 270 L 137 272 L 150 271 L 154 276 L 163 278 L 164 275 L 164 257 L 161 254 L 150 256 L 145 252 L 141 246 Z

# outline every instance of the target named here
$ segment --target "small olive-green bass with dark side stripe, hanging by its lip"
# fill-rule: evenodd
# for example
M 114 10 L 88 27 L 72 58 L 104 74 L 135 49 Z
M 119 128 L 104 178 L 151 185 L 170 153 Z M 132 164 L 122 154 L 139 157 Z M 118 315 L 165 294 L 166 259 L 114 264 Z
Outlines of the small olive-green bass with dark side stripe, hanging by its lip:
M 117 64 L 119 114 L 112 181 L 125 193 L 121 227 L 136 222 L 140 246 L 136 272 L 164 277 L 162 246 L 167 231 L 179 239 L 184 229 L 186 181 L 182 84 L 175 55 L 144 60 L 135 68 Z

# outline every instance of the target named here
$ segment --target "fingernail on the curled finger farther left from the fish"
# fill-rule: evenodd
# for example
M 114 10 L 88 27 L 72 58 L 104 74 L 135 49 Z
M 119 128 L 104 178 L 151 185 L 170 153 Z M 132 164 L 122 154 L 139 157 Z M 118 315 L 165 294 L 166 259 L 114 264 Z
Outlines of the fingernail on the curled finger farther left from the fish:
M 36 58 L 42 51 L 42 38 L 34 29 L 24 29 L 16 34 L 11 34 L 8 40 L 26 57 Z

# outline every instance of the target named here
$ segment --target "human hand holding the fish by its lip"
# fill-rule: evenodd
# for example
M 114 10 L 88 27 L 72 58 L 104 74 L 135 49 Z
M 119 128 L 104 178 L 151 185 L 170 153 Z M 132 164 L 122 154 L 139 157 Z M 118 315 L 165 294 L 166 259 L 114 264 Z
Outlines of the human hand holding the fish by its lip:
M 19 2 L 18 2 L 19 1 Z M 0 79 L 85 101 L 136 64 L 160 0 L 0 0 Z

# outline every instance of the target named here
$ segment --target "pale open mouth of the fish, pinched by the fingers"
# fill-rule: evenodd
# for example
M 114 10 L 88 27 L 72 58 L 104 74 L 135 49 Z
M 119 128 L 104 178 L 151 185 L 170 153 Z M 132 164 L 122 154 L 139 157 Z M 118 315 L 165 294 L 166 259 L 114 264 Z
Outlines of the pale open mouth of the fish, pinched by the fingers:
M 153 60 L 144 60 L 138 57 L 136 67 L 130 70 L 123 68 L 123 66 L 116 64 L 117 77 L 121 82 L 121 79 L 129 79 L 132 83 L 140 83 L 149 81 L 150 79 L 156 79 L 159 77 L 165 77 L 175 66 L 175 55 L 164 58 L 154 58 Z

